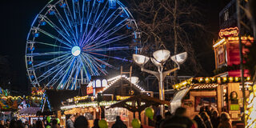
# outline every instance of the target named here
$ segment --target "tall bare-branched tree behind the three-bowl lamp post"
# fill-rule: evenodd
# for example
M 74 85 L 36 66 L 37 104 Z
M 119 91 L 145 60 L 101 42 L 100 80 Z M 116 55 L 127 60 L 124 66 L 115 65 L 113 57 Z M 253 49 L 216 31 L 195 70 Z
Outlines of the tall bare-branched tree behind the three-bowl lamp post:
M 196 2 L 190 0 L 130 0 L 130 7 L 142 32 L 143 53 L 150 55 L 154 50 L 168 49 L 171 54 L 186 51 L 189 58 L 186 71 L 205 74 L 194 54 L 193 43 L 206 32 L 200 21 L 202 14 Z M 174 63 L 166 62 L 168 68 Z M 189 68 L 187 68 L 189 67 Z M 193 69 L 193 70 L 191 70 Z M 177 77 L 177 72 L 174 76 Z

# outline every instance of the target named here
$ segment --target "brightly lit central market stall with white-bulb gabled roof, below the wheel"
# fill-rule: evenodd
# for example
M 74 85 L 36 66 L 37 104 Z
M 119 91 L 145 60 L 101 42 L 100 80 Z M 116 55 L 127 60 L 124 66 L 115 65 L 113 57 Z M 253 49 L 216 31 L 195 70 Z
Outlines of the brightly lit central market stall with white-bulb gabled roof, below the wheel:
M 61 107 L 62 125 L 65 124 L 66 115 L 84 115 L 89 120 L 90 126 L 93 126 L 95 118 L 105 118 L 112 126 L 116 116 L 120 116 L 122 121 L 130 126 L 130 121 L 133 118 L 133 113 L 122 107 L 106 109 L 110 105 L 130 98 L 134 94 L 141 94 L 144 91 L 137 82 L 131 82 L 131 78 L 126 78 L 125 75 L 114 78 L 95 79 L 86 86 L 86 95 L 74 98 L 69 98 L 63 102 Z M 130 105 L 132 102 L 129 102 Z

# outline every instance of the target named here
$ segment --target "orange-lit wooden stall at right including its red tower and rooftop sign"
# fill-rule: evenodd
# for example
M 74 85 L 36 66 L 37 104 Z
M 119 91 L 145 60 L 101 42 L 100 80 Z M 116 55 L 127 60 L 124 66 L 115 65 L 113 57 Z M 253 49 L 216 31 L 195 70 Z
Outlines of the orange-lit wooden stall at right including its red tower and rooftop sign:
M 184 106 L 191 117 L 198 114 L 202 106 L 228 112 L 233 121 L 242 120 L 243 92 L 240 70 L 240 53 L 238 27 L 220 30 L 219 39 L 214 42 L 215 70 L 213 77 L 190 78 L 174 85 L 171 101 L 172 112 L 178 106 Z M 246 54 L 246 46 L 254 41 L 250 36 L 242 36 L 242 54 Z M 249 97 L 252 83 L 249 70 L 244 71 L 245 95 Z

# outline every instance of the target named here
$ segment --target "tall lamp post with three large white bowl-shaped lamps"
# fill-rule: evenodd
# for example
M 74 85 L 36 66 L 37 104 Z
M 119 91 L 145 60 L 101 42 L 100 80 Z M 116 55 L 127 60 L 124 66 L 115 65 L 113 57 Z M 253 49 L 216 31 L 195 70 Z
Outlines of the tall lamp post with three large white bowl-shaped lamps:
M 141 70 L 149 73 L 149 74 L 154 74 L 156 78 L 158 78 L 158 85 L 159 85 L 159 98 L 160 100 L 165 100 L 165 92 L 164 92 L 164 84 L 163 80 L 166 78 L 167 74 L 170 74 L 174 72 L 175 70 L 179 70 L 180 66 L 183 62 L 186 61 L 187 58 L 187 53 L 184 52 L 182 54 L 177 54 L 174 56 L 170 57 L 170 51 L 169 50 L 157 50 L 153 53 L 154 58 L 149 58 L 141 54 L 133 54 L 134 62 L 136 62 L 139 66 L 141 66 Z M 163 72 L 163 66 L 168 60 L 168 58 L 171 58 L 172 61 L 174 61 L 178 67 L 172 69 L 172 70 L 166 70 Z M 144 65 L 146 62 L 151 60 L 151 62 L 154 63 L 155 66 L 158 67 L 158 71 L 153 71 L 153 70 L 146 70 L 144 69 Z M 160 106 L 160 114 L 164 115 L 164 105 Z

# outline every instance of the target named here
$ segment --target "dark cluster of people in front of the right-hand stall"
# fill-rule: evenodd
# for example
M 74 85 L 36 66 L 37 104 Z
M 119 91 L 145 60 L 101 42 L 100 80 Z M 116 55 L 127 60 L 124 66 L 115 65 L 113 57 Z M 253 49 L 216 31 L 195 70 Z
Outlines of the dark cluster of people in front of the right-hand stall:
M 193 119 L 187 116 L 186 108 L 183 107 L 178 107 L 174 115 L 167 112 L 165 116 L 165 119 L 161 115 L 157 116 L 156 128 L 232 128 L 229 114 L 222 112 L 218 115 L 218 110 L 210 110 L 208 106 L 202 106 Z

